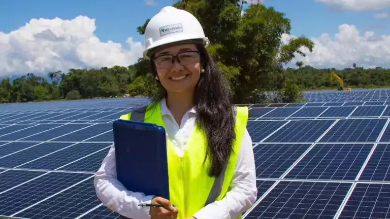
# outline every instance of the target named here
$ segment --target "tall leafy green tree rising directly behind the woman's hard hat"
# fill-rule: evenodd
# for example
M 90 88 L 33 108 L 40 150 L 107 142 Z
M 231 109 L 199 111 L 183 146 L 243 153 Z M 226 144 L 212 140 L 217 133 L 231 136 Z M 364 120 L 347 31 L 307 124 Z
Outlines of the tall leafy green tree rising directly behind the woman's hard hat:
M 241 2 L 241 1 L 239 1 Z M 252 4 L 241 16 L 244 4 L 233 0 L 179 1 L 175 7 L 198 18 L 209 37 L 208 51 L 230 79 L 236 103 L 259 102 L 258 94 L 271 89 L 272 75 L 282 74 L 281 65 L 295 54 L 311 52 L 313 42 L 304 36 L 283 45 L 281 37 L 289 34 L 290 21 L 283 13 L 261 4 Z

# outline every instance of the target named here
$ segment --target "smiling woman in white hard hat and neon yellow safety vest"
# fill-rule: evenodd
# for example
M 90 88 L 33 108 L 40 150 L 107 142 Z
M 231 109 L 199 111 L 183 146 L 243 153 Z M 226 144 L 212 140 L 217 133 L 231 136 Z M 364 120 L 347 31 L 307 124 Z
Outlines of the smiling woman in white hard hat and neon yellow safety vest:
M 248 109 L 232 107 L 229 87 L 205 49 L 209 43 L 199 21 L 173 7 L 163 8 L 145 29 L 144 58 L 160 92 L 141 119 L 164 126 L 168 134 L 171 200 L 127 191 L 116 179 L 113 145 L 94 186 L 102 203 L 124 217 L 238 218 L 256 200 Z

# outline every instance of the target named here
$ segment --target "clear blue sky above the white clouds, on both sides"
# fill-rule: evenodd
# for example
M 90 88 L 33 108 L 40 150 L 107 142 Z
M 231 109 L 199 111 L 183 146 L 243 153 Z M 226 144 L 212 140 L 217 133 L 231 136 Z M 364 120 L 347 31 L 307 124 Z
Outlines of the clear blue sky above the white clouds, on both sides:
M 147 5 L 143 0 L 0 1 L 0 31 L 15 30 L 32 18 L 73 19 L 78 15 L 84 15 L 96 19 L 95 34 L 102 41 L 112 40 L 123 43 L 128 36 L 143 41 L 142 36 L 136 31 L 137 26 L 156 14 L 160 8 L 169 5 L 172 5 L 172 0 L 155 0 L 152 6 Z M 338 31 L 338 26 L 343 23 L 356 25 L 362 31 L 390 33 L 388 19 L 374 18 L 378 12 L 390 13 L 390 9 L 359 13 L 336 11 L 314 0 L 268 0 L 265 1 L 265 5 L 274 7 L 291 19 L 293 35 L 304 34 L 308 37 L 316 37 L 323 32 L 333 35 Z

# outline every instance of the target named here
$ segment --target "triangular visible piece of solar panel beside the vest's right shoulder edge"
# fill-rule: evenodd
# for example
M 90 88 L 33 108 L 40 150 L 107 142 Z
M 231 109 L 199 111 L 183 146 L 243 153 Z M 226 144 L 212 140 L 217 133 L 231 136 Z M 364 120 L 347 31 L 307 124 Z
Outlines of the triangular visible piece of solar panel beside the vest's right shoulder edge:
M 286 121 L 253 121 L 248 122 L 246 128 L 253 142 L 259 142 L 280 128 Z

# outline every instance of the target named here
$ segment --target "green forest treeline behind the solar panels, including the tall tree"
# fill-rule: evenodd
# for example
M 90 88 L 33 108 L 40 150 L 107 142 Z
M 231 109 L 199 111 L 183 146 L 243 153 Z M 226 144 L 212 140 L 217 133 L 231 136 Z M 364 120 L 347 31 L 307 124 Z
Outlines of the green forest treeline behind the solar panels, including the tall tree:
M 390 69 L 359 67 L 316 69 L 297 62 L 298 68 L 283 68 L 300 48 L 312 51 L 314 44 L 305 36 L 283 44 L 281 36 L 290 32 L 290 20 L 272 7 L 251 4 L 243 10 L 243 0 L 181 0 L 174 7 L 185 9 L 202 23 L 211 41 L 207 48 L 232 88 L 235 103 L 299 102 L 303 89 L 337 88 L 330 72 L 345 85 L 372 87 L 390 85 Z M 137 28 L 144 34 L 149 19 Z M 131 66 L 100 69 L 69 69 L 68 72 L 28 73 L 0 84 L 0 101 L 29 102 L 58 99 L 100 98 L 123 95 L 150 96 L 156 89 L 148 61 L 140 58 Z M 267 96 L 268 91 L 276 95 Z

